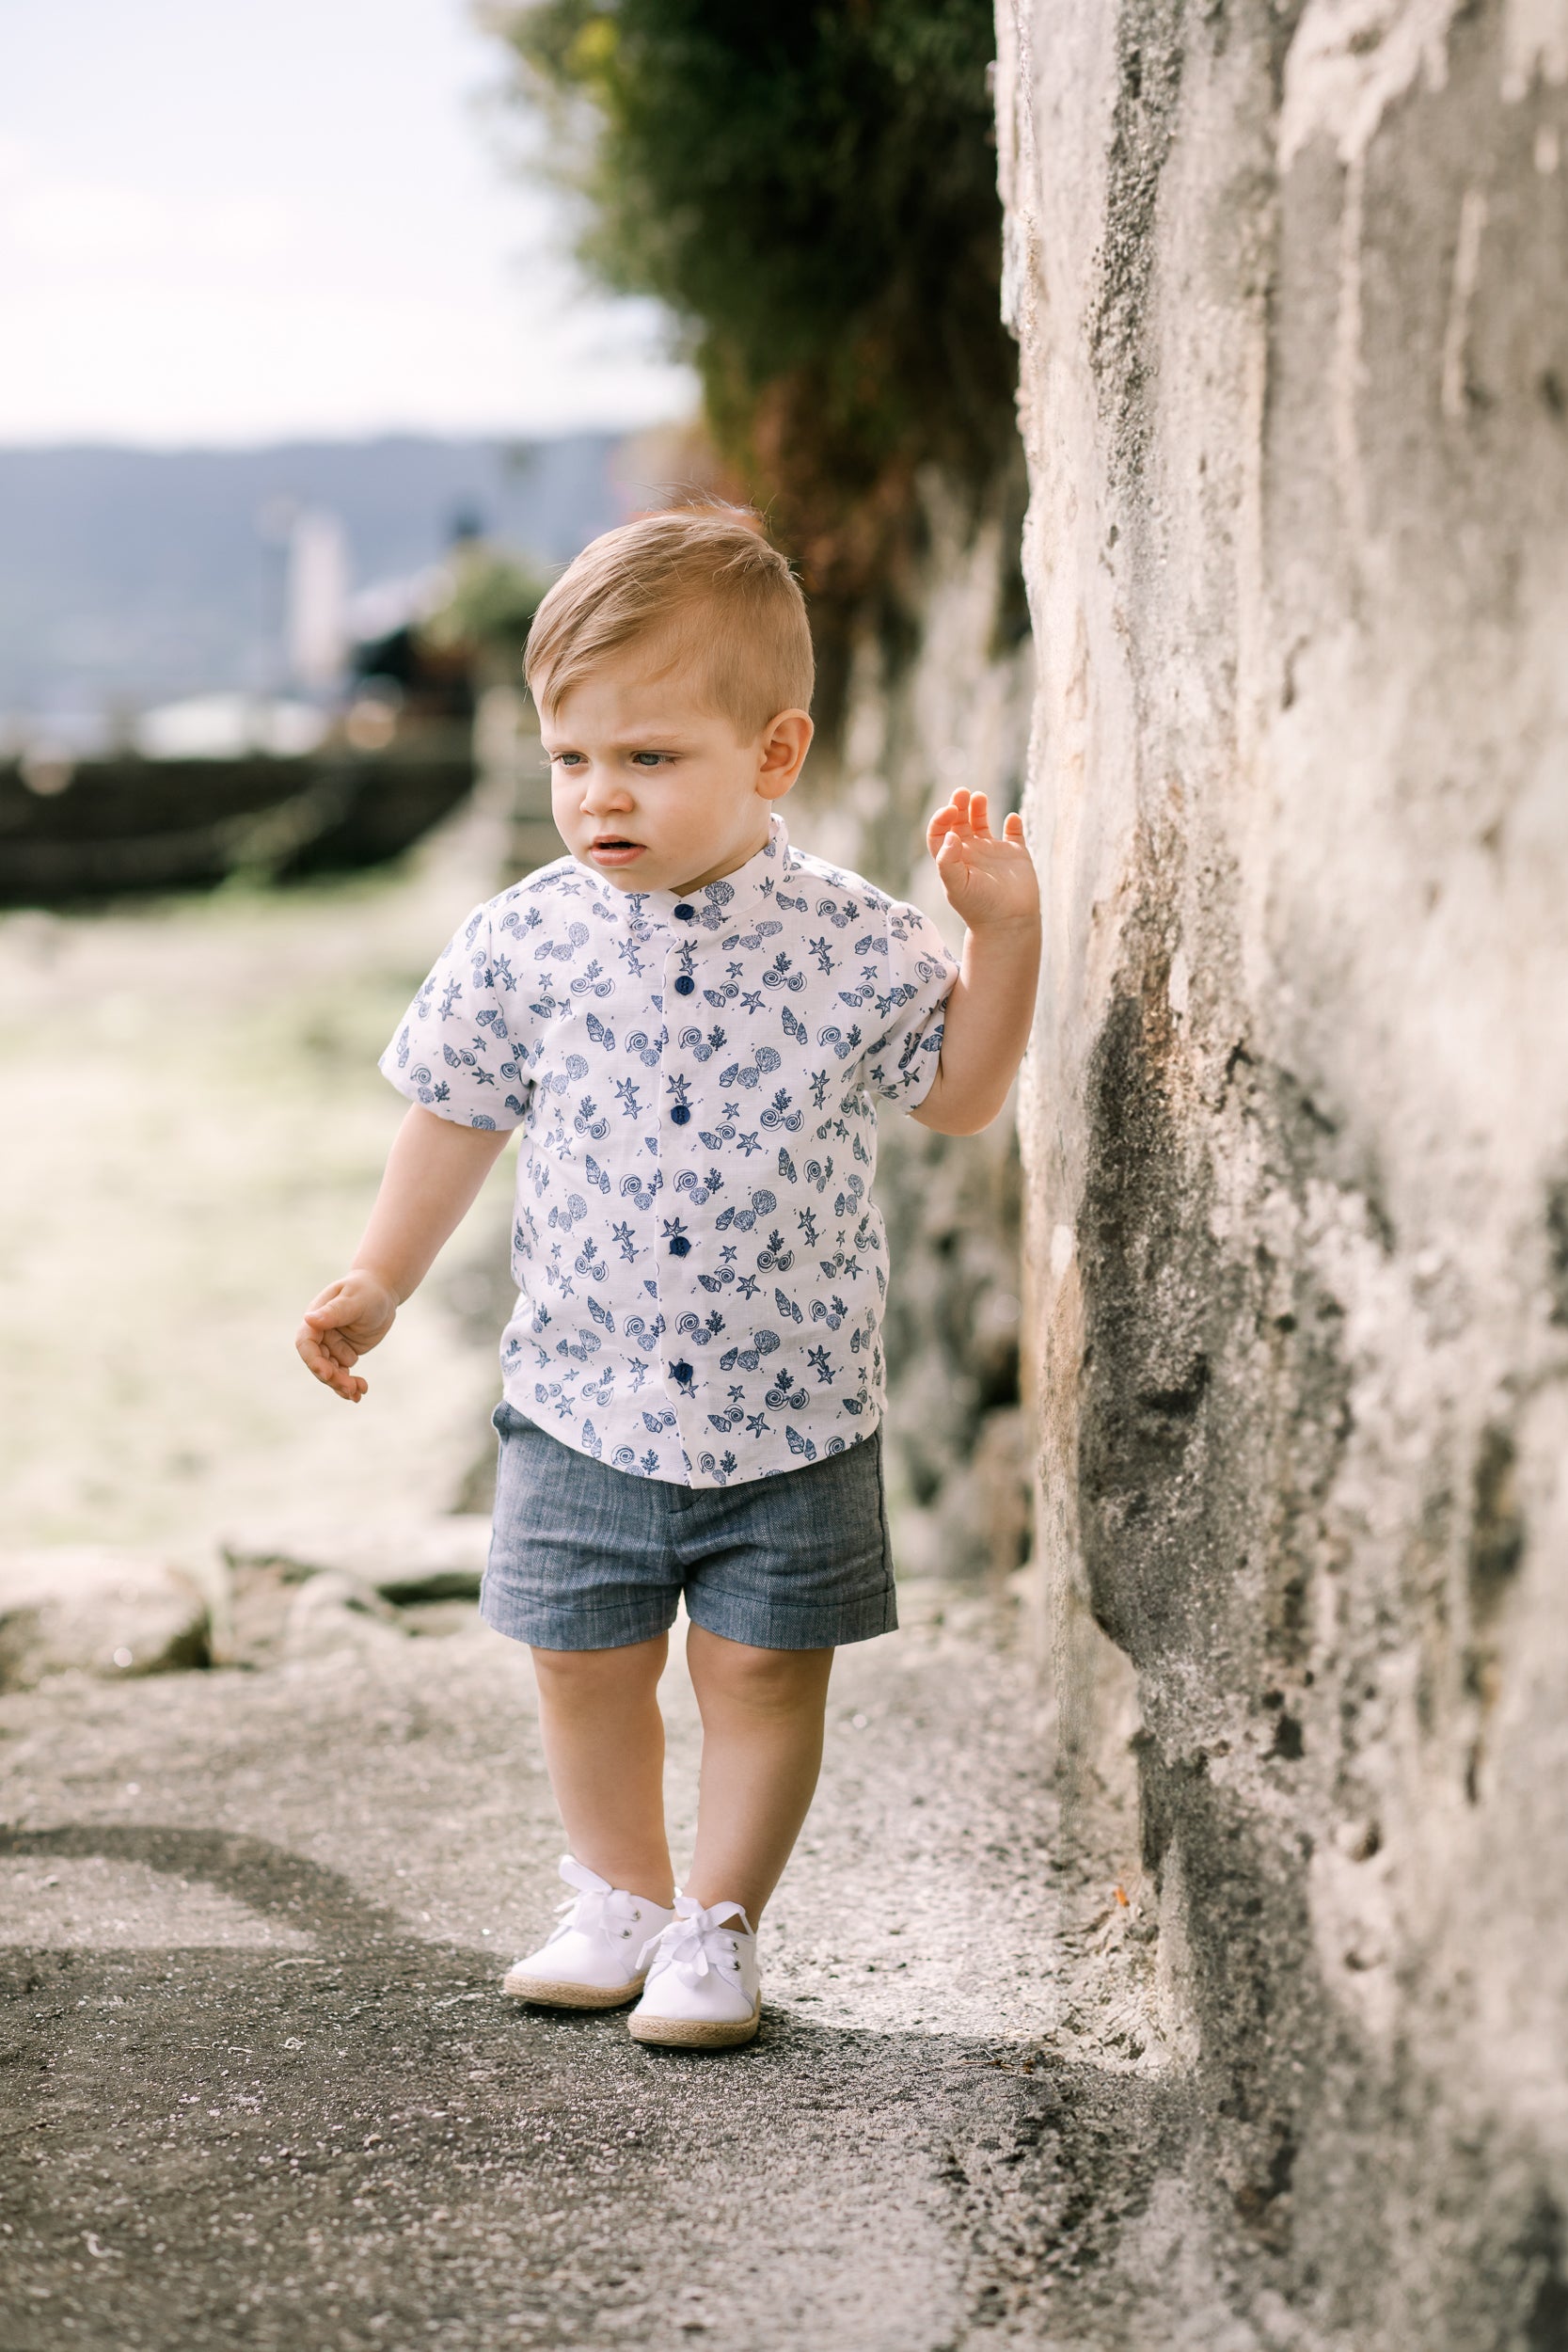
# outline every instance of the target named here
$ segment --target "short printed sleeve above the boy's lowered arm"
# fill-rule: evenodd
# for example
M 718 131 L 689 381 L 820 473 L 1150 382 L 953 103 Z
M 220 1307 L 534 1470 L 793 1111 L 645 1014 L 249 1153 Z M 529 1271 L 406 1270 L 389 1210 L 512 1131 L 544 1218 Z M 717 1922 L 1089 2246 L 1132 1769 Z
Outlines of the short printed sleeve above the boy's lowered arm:
M 477 906 L 402 1016 L 381 1075 L 458 1127 L 517 1127 L 534 1091 L 527 1033 L 524 993 L 496 948 L 491 908 Z

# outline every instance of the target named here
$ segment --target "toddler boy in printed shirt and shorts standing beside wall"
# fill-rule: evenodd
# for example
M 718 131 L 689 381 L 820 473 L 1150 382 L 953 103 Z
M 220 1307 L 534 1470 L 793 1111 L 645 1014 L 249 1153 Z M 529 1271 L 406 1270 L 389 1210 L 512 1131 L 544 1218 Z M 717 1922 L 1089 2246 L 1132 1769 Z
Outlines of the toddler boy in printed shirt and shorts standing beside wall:
M 896 1625 L 882 1498 L 877 1103 L 971 1134 L 1030 1033 L 1039 891 L 1009 816 L 926 840 L 969 936 L 790 844 L 811 635 L 729 508 L 607 532 L 538 607 L 567 856 L 463 922 L 381 1068 L 411 1110 L 299 1352 L 341 1397 L 522 1129 L 482 1613 L 527 1642 L 576 1896 L 505 1990 L 750 2042 L 755 1924 L 811 1804 L 839 1642 Z M 703 1717 L 682 1893 L 658 1677 Z

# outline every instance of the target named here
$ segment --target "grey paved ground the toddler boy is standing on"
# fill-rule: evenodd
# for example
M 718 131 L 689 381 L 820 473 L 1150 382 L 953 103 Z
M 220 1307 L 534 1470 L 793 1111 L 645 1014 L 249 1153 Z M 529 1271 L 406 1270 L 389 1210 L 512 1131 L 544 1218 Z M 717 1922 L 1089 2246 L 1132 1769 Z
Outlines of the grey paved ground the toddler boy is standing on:
M 477 1623 L 0 1700 L 7 2352 L 1251 2345 L 1152 2331 L 1143 1950 L 1053 1856 L 1027 1672 L 910 1599 L 839 1661 L 736 2056 L 498 1999 L 559 1832 Z

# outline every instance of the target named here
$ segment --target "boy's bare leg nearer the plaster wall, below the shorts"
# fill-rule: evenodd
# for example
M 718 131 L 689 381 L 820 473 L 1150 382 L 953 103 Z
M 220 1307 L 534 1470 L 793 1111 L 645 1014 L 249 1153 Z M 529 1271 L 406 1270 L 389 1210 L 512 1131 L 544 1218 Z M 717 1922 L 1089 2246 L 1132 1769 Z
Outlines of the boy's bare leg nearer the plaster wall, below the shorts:
M 783 1877 L 823 1764 L 830 1649 L 752 1649 L 686 1635 L 703 1712 L 703 1785 L 686 1893 L 741 1903 L 757 1926 Z

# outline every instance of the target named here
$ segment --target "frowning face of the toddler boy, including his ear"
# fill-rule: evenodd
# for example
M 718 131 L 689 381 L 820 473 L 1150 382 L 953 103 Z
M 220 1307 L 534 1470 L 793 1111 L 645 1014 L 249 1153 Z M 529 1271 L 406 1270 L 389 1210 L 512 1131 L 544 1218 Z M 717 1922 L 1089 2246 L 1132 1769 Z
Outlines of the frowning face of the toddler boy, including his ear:
M 811 720 L 785 710 L 748 743 L 679 670 L 649 675 L 654 666 L 632 644 L 541 722 L 550 811 L 571 856 L 618 889 L 701 889 L 766 844 Z

